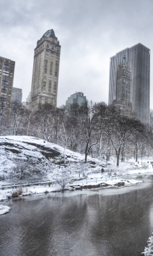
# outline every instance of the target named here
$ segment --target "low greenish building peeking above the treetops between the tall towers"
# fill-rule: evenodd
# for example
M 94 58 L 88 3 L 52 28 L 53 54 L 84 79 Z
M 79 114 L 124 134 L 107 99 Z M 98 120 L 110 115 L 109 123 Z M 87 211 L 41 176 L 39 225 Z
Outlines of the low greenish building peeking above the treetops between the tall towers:
M 78 104 L 81 106 L 87 101 L 86 97 L 84 96 L 84 93 L 82 92 L 76 92 L 72 94 L 70 97 L 68 97 L 68 100 L 66 100 L 66 106 L 70 104 Z

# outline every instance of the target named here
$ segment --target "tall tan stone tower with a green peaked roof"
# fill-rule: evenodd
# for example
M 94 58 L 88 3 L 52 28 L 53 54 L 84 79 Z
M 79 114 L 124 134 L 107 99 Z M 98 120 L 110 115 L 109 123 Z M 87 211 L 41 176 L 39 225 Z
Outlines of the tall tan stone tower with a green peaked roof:
M 34 49 L 33 78 L 31 84 L 31 108 L 51 103 L 57 106 L 59 60 L 61 45 L 54 30 L 48 30 Z

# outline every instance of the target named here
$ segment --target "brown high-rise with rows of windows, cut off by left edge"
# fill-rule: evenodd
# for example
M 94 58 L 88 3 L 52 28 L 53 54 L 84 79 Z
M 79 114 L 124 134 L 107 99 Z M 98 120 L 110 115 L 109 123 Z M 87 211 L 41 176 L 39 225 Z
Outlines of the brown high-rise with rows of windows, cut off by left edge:
M 15 61 L 0 57 L 0 109 L 10 108 Z

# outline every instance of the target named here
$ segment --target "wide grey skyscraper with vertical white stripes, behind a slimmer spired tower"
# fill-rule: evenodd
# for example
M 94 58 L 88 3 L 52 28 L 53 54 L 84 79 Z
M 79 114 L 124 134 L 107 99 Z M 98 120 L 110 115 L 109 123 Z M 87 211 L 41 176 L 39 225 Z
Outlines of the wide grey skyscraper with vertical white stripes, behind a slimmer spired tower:
M 108 103 L 117 99 L 117 67 L 126 60 L 131 70 L 131 96 L 132 109 L 136 118 L 143 124 L 150 122 L 150 49 L 142 44 L 126 48 L 110 58 L 110 83 Z

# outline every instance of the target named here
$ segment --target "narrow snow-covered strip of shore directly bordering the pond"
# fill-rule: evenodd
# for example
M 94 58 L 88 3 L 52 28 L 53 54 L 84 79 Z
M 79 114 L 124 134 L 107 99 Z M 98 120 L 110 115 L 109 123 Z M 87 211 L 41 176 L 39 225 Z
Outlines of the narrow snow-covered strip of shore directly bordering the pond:
M 95 175 L 95 174 L 94 174 Z M 93 179 L 93 178 L 92 178 Z M 108 177 L 107 180 L 100 181 L 92 181 L 87 182 L 87 180 L 79 180 L 77 184 L 69 184 L 64 189 L 61 188 L 59 184 L 47 184 L 38 186 L 22 186 L 22 184 L 13 186 L 13 188 L 2 188 L 0 190 L 0 202 L 4 200 L 8 200 L 10 198 L 29 196 L 29 195 L 37 195 L 41 193 L 50 193 L 50 192 L 61 192 L 61 191 L 74 191 L 74 190 L 82 190 L 82 189 L 108 189 L 108 188 L 125 188 L 126 186 L 132 186 L 133 184 L 138 184 L 142 182 L 142 180 L 132 180 L 132 179 L 112 179 L 112 177 Z M 71 183 L 71 182 L 70 182 Z M 9 186 L 8 186 L 9 187 Z M 17 194 L 18 190 L 21 190 L 20 195 Z M 15 196 L 15 193 L 17 196 Z

